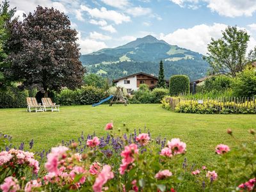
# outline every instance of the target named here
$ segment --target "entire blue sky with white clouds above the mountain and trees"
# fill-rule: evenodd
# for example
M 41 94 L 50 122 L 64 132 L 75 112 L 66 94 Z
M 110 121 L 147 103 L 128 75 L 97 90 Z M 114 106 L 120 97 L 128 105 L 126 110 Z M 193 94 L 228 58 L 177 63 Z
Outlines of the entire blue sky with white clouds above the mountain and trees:
M 248 49 L 256 45 L 256 0 L 10 0 L 16 16 L 36 6 L 65 12 L 77 42 L 86 54 L 116 47 L 146 35 L 205 54 L 211 37 L 237 25 L 251 35 Z

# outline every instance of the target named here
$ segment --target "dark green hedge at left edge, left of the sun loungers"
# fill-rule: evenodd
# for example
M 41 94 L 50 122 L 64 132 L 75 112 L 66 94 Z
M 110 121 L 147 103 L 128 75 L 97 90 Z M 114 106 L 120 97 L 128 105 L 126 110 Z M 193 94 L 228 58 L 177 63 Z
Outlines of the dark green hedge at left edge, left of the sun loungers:
M 26 108 L 26 97 L 29 97 L 28 90 L 9 87 L 0 92 L 0 108 Z

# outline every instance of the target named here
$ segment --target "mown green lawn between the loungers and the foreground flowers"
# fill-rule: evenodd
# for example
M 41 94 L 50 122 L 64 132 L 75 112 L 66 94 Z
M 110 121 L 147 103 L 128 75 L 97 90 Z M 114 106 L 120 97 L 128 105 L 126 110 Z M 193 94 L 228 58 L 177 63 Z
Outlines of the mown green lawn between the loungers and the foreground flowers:
M 210 164 L 216 160 L 214 147 L 224 143 L 234 147 L 235 141 L 226 134 L 227 128 L 234 131 L 238 142 L 252 138 L 248 129 L 256 127 L 256 115 L 198 115 L 173 113 L 159 104 L 131 104 L 127 107 L 115 105 L 63 106 L 60 113 L 28 113 L 25 109 L 0 109 L 0 132 L 13 136 L 13 143 L 34 139 L 33 150 L 50 148 L 96 132 L 106 133 L 104 125 L 113 120 L 115 129 L 123 128 L 124 122 L 132 131 L 147 127 L 152 136 L 161 135 L 167 140 L 180 138 L 187 143 L 188 160 L 200 164 Z

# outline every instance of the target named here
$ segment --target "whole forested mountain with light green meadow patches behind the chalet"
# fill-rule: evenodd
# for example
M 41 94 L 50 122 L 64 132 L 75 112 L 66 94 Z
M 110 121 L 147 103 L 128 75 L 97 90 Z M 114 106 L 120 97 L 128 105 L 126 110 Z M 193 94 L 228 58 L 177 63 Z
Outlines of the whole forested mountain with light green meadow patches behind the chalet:
M 89 72 L 110 79 L 136 72 L 157 76 L 159 61 L 163 60 L 166 78 L 174 74 L 186 74 L 193 80 L 205 76 L 209 68 L 202 56 L 148 35 L 119 47 L 81 55 L 80 60 Z

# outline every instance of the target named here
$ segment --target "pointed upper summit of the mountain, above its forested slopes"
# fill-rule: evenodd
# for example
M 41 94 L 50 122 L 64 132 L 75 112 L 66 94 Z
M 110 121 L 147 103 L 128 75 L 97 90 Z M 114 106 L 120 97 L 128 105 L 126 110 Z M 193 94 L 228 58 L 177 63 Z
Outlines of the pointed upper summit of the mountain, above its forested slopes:
M 120 47 L 116 47 L 116 49 L 135 48 L 135 47 L 138 47 L 138 45 L 140 44 L 154 44 L 154 43 L 167 44 L 163 40 L 158 40 L 156 37 L 152 35 L 147 35 L 142 38 L 136 38 L 136 40 L 129 42 L 128 44 L 122 45 Z

